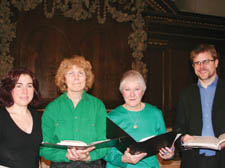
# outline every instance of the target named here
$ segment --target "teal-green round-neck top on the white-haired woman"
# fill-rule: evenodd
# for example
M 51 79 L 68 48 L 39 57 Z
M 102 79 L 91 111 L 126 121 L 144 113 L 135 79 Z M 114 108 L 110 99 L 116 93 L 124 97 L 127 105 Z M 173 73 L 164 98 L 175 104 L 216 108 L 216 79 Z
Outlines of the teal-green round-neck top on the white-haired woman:
M 147 103 L 145 103 L 145 108 L 139 112 L 128 111 L 123 106 L 119 106 L 112 110 L 108 117 L 136 141 L 166 132 L 162 112 Z M 136 129 L 133 127 L 134 123 L 138 126 Z M 136 165 L 123 163 L 122 155 L 116 148 L 111 148 L 105 156 L 106 168 L 159 168 L 155 155 L 142 159 Z

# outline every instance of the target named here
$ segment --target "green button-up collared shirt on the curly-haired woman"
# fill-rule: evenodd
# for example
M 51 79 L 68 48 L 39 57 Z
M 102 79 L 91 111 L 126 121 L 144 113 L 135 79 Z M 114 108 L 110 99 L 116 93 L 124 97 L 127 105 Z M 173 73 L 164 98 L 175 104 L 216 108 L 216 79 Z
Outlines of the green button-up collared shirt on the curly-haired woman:
M 47 105 L 42 116 L 43 142 L 78 140 L 89 144 L 106 139 L 106 109 L 103 102 L 83 92 L 74 108 L 66 92 Z M 66 149 L 41 147 L 40 155 L 54 162 L 69 162 Z M 105 156 L 107 149 L 90 152 L 91 161 Z

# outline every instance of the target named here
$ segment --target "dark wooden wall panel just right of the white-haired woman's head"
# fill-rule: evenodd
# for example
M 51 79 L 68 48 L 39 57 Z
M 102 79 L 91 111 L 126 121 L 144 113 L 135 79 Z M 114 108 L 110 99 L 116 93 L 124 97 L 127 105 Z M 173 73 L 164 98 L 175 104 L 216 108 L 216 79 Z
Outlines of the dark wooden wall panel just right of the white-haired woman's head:
M 162 110 L 168 116 L 168 47 L 149 45 L 143 61 L 147 64 L 147 90 L 144 101 Z M 167 122 L 167 121 L 166 121 Z

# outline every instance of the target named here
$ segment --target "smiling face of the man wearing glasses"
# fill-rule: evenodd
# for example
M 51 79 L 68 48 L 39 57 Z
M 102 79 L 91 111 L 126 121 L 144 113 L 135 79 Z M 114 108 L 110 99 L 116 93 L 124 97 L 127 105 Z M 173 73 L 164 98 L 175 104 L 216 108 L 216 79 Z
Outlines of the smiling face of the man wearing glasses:
M 210 61 L 207 62 L 206 60 Z M 196 62 L 201 63 L 195 64 Z M 193 58 L 193 68 L 201 83 L 210 84 L 215 79 L 218 63 L 218 59 L 214 60 L 210 52 L 199 53 Z

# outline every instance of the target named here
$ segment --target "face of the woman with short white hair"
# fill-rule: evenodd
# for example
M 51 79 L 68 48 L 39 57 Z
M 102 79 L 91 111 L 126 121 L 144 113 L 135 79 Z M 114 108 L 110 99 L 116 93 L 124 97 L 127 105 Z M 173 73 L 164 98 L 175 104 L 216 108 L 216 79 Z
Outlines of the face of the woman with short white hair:
M 144 91 L 137 79 L 128 78 L 123 85 L 122 95 L 126 106 L 134 109 L 140 107 Z

